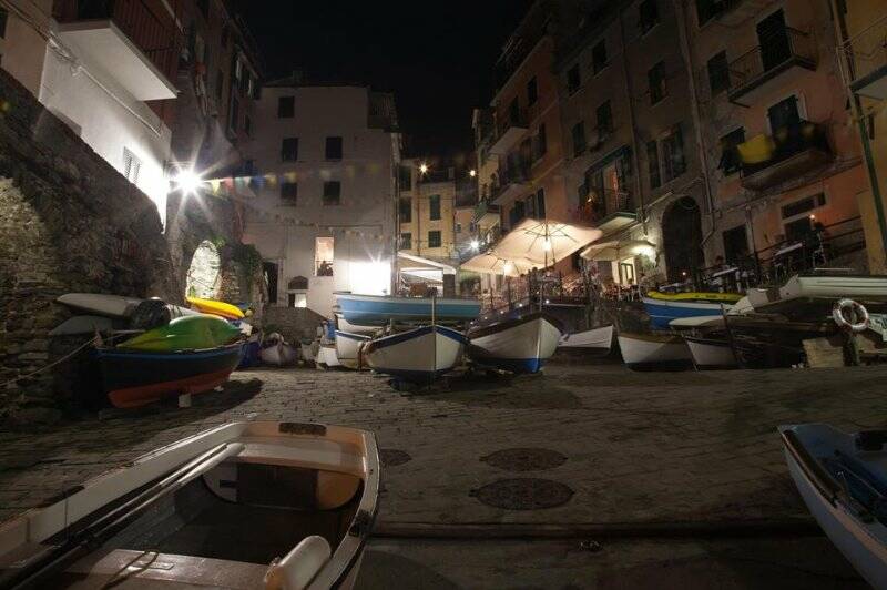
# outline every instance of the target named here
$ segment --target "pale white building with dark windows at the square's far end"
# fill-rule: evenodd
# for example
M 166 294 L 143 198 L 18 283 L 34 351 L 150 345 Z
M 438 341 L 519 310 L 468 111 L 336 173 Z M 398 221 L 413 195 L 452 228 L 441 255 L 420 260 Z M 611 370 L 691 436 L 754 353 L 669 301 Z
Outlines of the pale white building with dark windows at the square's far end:
M 329 317 L 335 291 L 391 293 L 400 136 L 390 94 L 269 82 L 245 145 L 255 173 L 244 242 L 264 258 L 272 306 Z

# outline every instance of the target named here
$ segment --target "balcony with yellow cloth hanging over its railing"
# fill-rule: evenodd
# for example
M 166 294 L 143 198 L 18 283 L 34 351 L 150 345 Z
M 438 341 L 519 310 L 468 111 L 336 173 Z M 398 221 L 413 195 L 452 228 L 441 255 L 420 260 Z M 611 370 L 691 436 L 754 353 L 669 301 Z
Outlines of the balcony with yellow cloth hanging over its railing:
M 736 146 L 744 189 L 763 191 L 832 161 L 825 126 L 809 121 L 757 135 Z

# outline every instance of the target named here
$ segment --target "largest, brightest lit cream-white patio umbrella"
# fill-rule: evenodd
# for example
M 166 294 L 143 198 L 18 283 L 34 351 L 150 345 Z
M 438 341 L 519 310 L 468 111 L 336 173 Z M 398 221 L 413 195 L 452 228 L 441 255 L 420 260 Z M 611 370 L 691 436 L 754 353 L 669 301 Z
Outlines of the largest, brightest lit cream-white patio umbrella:
M 506 260 L 524 258 L 544 268 L 600 238 L 594 227 L 555 221 L 524 220 L 496 245 L 496 255 Z

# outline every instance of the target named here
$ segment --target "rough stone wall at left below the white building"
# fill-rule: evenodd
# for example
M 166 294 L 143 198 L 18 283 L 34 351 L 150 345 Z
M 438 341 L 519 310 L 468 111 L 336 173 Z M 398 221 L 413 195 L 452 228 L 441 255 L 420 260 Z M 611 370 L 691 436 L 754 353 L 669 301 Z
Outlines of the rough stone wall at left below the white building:
M 154 204 L 0 71 L 0 423 L 73 407 L 81 343 L 51 342 L 67 292 L 169 297 Z

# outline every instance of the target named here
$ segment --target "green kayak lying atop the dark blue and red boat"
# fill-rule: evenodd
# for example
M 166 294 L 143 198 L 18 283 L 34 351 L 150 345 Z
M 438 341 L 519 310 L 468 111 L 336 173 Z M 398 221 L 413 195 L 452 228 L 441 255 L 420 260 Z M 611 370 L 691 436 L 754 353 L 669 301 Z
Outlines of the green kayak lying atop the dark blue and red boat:
M 232 343 L 241 330 L 210 314 L 176 317 L 165 326 L 150 329 L 118 345 L 118 348 L 152 353 L 173 353 L 195 348 L 215 348 Z

